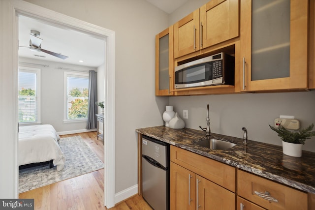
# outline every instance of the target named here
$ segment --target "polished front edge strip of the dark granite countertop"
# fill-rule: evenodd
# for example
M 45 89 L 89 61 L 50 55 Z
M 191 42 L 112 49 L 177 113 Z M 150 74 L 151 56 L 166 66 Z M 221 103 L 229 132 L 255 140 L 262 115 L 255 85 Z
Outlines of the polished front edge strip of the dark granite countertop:
M 225 163 L 227 165 L 236 167 L 237 169 L 241 169 L 243 171 L 250 172 L 252 174 L 258 175 L 258 176 L 263 177 L 263 178 L 266 178 L 268 180 L 276 181 L 276 182 L 285 184 L 287 186 L 293 187 L 295 189 L 299 189 L 299 190 L 302 190 L 304 192 L 314 193 L 315 194 L 315 187 L 313 187 L 313 186 L 301 183 L 299 181 L 287 179 L 287 178 L 281 177 L 281 176 L 279 176 L 277 174 L 269 173 L 267 171 L 262 171 L 262 170 L 260 170 L 258 168 L 250 167 L 248 165 L 244 165 L 242 163 L 235 162 L 233 160 L 229 160 L 227 158 L 220 157 L 220 156 L 218 156 L 216 154 L 211 154 L 211 153 L 208 153 L 208 152 L 204 152 L 202 150 L 196 150 L 195 148 L 192 149 L 192 147 L 189 144 L 181 144 L 181 143 L 178 143 L 178 142 L 174 142 L 174 141 L 170 141 L 170 140 L 167 140 L 167 139 L 163 139 L 163 138 L 160 138 L 160 137 L 158 137 L 156 135 L 151 135 L 148 132 L 144 132 L 144 131 L 142 131 L 142 129 L 145 129 L 145 128 L 136 129 L 136 132 L 140 133 L 140 134 L 143 134 L 143 135 L 146 135 L 146 136 L 149 136 L 149 137 L 152 137 L 152 138 L 156 138 L 156 139 L 158 139 L 158 140 L 160 140 L 162 142 L 165 142 L 165 143 L 168 143 L 170 145 L 179 147 L 181 149 L 189 150 L 189 151 L 191 151 L 193 153 L 200 154 L 200 155 L 205 156 L 205 157 L 209 157 L 209 158 L 217 160 L 217 161 L 219 161 L 221 163 Z M 265 144 L 265 143 L 261 143 L 261 144 Z

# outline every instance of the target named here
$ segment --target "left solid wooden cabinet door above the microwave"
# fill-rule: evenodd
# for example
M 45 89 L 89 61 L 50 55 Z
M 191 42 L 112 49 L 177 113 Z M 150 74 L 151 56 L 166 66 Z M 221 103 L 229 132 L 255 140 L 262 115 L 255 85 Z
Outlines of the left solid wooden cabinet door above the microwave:
M 174 24 L 174 57 L 199 50 L 199 9 Z

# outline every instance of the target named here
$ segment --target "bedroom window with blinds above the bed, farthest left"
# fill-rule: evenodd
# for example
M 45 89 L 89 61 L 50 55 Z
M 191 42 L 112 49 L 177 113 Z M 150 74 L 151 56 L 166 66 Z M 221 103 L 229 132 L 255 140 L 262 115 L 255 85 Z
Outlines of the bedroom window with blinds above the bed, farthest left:
M 18 91 L 19 123 L 40 122 L 40 69 L 20 67 Z

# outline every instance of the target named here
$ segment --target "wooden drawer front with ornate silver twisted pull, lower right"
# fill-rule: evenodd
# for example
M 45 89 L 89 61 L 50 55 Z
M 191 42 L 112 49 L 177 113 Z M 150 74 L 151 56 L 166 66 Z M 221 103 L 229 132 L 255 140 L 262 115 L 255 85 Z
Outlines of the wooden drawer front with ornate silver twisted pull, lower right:
M 237 191 L 239 196 L 268 210 L 307 210 L 308 206 L 307 193 L 241 170 L 237 171 Z

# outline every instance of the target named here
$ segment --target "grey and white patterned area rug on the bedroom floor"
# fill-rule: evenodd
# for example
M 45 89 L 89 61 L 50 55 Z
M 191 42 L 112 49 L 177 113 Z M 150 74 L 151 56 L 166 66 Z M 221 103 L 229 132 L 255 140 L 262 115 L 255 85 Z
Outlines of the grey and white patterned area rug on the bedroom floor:
M 64 168 L 37 166 L 19 171 L 19 193 L 87 174 L 104 168 L 103 162 L 80 136 L 62 138 L 59 145 L 65 156 Z

